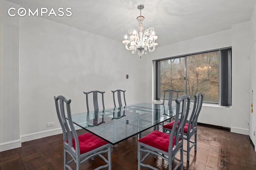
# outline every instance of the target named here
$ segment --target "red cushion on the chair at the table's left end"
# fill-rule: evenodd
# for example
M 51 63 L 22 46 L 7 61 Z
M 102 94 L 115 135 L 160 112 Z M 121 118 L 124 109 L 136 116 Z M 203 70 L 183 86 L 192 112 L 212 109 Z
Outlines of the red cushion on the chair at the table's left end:
M 92 133 L 85 133 L 83 135 L 78 136 L 80 154 L 89 152 L 98 147 L 106 145 L 107 142 L 100 139 L 99 137 L 93 135 Z M 68 141 L 67 141 L 68 142 Z M 72 138 L 73 147 L 76 150 L 75 139 Z

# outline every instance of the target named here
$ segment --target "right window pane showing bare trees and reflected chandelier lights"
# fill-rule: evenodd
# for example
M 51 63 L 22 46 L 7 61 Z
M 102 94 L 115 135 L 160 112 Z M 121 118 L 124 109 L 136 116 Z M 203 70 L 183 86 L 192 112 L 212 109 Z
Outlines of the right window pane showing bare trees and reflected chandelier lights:
M 204 93 L 204 102 L 219 102 L 219 52 L 187 56 L 187 95 Z

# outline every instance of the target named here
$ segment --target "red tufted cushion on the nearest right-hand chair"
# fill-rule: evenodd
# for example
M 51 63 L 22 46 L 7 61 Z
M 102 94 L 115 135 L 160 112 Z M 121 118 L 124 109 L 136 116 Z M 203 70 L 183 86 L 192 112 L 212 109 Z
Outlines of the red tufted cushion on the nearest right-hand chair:
M 138 142 L 163 150 L 164 152 L 168 152 L 169 138 L 170 138 L 169 134 L 155 130 L 154 132 L 139 139 Z M 175 137 L 173 137 L 172 139 L 172 147 L 174 147 L 174 140 L 175 140 Z M 179 141 L 180 141 L 180 138 L 179 138 Z

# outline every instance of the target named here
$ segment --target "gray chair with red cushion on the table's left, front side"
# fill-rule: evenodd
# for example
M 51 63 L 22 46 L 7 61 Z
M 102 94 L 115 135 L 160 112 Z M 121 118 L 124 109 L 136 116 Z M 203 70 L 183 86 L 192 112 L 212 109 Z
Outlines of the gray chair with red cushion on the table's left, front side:
M 75 162 L 76 170 L 80 170 L 80 164 L 89 159 L 94 160 L 94 156 L 99 156 L 106 163 L 105 165 L 98 166 L 98 168 L 96 168 L 97 170 L 103 168 L 111 170 L 110 144 L 92 133 L 85 133 L 77 136 L 70 111 L 71 100 L 67 100 L 64 96 L 54 96 L 54 100 L 58 119 L 63 132 L 64 170 L 67 168 L 72 170 L 70 166 L 71 162 Z M 65 116 L 65 111 L 68 115 L 68 121 Z M 102 155 L 104 153 L 108 154 L 108 160 Z M 67 154 L 71 157 L 70 161 L 67 161 Z

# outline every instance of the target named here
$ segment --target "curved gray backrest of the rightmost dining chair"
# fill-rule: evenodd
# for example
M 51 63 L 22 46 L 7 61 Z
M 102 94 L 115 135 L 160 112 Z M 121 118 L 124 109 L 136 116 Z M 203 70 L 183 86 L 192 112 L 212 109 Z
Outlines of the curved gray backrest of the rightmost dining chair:
M 191 129 L 194 129 L 197 127 L 197 119 L 202 108 L 204 94 L 198 93 L 194 97 L 195 97 L 195 100 L 194 100 L 193 110 L 191 112 L 190 119 L 188 120 L 188 127 L 191 126 Z

